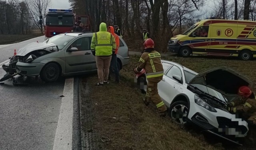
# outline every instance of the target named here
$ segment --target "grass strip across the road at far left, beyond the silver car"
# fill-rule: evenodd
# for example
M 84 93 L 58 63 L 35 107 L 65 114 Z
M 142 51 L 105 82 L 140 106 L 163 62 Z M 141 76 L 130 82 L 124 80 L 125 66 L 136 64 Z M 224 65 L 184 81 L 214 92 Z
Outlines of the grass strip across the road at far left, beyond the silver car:
M 31 38 L 35 38 L 38 36 L 38 34 L 0 34 L 0 45 L 1 44 L 12 44 L 16 42 L 22 42 L 24 40 L 29 40 Z

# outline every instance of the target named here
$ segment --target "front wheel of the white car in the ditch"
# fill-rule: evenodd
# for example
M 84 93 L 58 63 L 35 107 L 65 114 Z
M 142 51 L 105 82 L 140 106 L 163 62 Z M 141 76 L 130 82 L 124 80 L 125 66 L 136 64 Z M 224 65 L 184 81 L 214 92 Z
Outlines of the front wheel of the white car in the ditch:
M 174 102 L 171 104 L 168 113 L 170 118 L 176 124 L 185 125 L 187 124 L 186 117 L 188 116 L 188 103 L 184 101 Z

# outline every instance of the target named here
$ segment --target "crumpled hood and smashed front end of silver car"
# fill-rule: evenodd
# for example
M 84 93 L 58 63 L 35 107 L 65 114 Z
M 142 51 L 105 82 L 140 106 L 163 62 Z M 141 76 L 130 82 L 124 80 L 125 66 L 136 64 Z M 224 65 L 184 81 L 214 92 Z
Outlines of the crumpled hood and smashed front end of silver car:
M 16 75 L 27 75 L 27 72 L 18 69 L 16 66 L 17 62 L 32 63 L 36 58 L 56 51 L 58 51 L 58 46 L 53 43 L 47 44 L 34 42 L 20 48 L 16 55 L 9 58 L 10 62 L 8 65 L 2 65 L 6 74 L 0 79 L 0 82 L 8 80 Z

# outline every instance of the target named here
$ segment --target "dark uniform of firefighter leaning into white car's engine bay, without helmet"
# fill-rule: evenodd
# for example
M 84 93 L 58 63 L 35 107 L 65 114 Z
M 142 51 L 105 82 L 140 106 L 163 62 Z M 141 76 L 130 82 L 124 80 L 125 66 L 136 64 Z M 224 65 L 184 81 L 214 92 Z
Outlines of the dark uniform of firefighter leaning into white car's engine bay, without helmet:
M 254 94 L 250 98 L 239 98 L 229 103 L 228 110 L 231 113 L 242 114 L 242 116 L 248 118 L 248 123 L 256 124 L 256 97 Z

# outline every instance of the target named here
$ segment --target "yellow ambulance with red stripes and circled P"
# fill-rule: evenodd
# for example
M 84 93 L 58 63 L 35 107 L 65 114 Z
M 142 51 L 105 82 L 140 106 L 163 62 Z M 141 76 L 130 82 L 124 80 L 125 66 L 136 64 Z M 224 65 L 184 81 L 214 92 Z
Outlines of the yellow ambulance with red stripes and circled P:
M 183 34 L 173 36 L 168 51 L 180 56 L 190 54 L 256 57 L 256 22 L 245 20 L 206 19 Z

